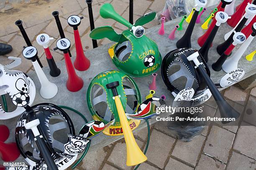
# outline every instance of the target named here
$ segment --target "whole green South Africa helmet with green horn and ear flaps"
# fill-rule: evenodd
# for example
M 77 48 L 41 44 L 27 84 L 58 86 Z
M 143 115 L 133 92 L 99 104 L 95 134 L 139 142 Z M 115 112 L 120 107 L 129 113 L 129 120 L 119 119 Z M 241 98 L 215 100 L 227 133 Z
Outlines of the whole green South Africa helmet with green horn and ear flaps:
M 108 52 L 119 70 L 133 77 L 151 75 L 161 67 L 161 54 L 156 43 L 144 35 L 141 25 L 149 23 L 156 16 L 155 12 L 148 13 L 132 25 L 115 12 L 111 4 L 104 4 L 100 8 L 102 18 L 112 18 L 128 27 L 122 34 L 118 34 L 110 26 L 95 28 L 90 33 L 92 39 L 108 38 L 117 42 Z

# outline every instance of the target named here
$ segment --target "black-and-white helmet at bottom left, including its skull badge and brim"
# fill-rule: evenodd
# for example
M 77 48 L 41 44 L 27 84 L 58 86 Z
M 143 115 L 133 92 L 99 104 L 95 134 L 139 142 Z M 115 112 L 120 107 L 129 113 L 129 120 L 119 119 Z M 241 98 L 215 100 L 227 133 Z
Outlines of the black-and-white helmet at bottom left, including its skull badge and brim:
M 68 168 L 81 153 L 90 140 L 75 135 L 74 126 L 64 110 L 50 103 L 34 105 L 31 109 L 40 121 L 37 126 L 51 156 L 59 170 Z M 31 129 L 26 129 L 31 112 L 23 112 L 16 129 L 15 139 L 21 155 L 28 163 L 28 169 L 48 169 L 36 144 Z M 43 168 L 44 167 L 44 168 Z M 31 168 L 32 169 L 32 168 Z

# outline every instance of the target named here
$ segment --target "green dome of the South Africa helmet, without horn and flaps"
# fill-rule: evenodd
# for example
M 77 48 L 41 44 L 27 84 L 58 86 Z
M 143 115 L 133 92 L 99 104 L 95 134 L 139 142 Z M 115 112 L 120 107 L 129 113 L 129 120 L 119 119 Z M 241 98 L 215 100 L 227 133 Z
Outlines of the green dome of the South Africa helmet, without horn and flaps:
M 146 35 L 137 38 L 125 30 L 118 43 L 108 50 L 119 70 L 133 77 L 151 75 L 161 67 L 161 54 L 156 43 Z

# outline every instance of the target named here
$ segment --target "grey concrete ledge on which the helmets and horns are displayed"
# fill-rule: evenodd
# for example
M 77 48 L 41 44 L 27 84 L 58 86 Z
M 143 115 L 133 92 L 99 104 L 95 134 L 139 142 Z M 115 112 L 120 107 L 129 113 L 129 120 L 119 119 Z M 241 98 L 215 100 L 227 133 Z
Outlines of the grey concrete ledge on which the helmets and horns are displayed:
M 204 20 L 207 17 L 207 14 L 213 8 L 214 7 L 208 7 L 207 12 L 202 17 L 202 20 Z M 177 40 L 179 40 L 179 38 L 182 37 L 182 35 L 184 34 L 184 32 L 187 28 L 187 23 L 184 22 L 184 25 L 183 25 L 184 30 L 176 32 L 177 37 L 175 40 L 169 40 L 168 39 L 169 33 L 172 31 L 172 29 L 175 27 L 175 25 L 177 25 L 179 23 L 179 21 L 180 21 L 180 18 L 177 18 L 175 20 L 165 23 L 166 34 L 163 36 L 157 34 L 157 31 L 159 30 L 160 25 L 146 30 L 146 35 L 158 44 L 159 51 L 161 52 L 162 57 L 164 57 L 169 51 L 176 49 Z M 192 35 L 192 47 L 194 47 L 198 50 L 200 49 L 200 47 L 197 44 L 197 38 L 200 37 L 205 32 L 205 30 L 202 30 L 202 28 L 200 26 L 201 26 L 201 24 L 195 25 L 195 29 L 194 29 L 194 32 Z M 222 24 L 220 26 L 219 31 L 215 37 L 214 42 L 213 42 L 213 46 L 209 51 L 209 62 L 208 62 L 209 65 L 212 65 L 212 63 L 218 59 L 219 55 L 216 52 L 216 47 L 218 44 L 220 44 L 224 41 L 224 34 L 231 29 L 232 28 L 230 28 L 226 23 Z M 88 119 L 88 121 L 92 120 L 92 116 L 87 108 L 87 100 L 86 100 L 87 88 L 88 88 L 92 78 L 94 78 L 100 72 L 103 72 L 106 70 L 118 70 L 115 67 L 115 65 L 112 63 L 112 61 L 110 60 L 110 57 L 108 55 L 108 48 L 110 46 L 111 46 L 111 44 L 103 45 L 94 50 L 85 52 L 85 55 L 91 61 L 91 66 L 90 66 L 89 70 L 87 70 L 87 71 L 84 71 L 84 72 L 77 71 L 77 74 L 80 77 L 82 77 L 82 79 L 84 80 L 84 87 L 79 92 L 69 92 L 66 88 L 67 70 L 66 70 L 64 60 L 57 63 L 58 67 L 61 69 L 61 75 L 59 77 L 51 77 L 49 75 L 49 67 L 45 67 L 43 69 L 44 72 L 46 73 L 46 76 L 49 78 L 49 80 L 51 82 L 54 82 L 59 87 L 58 94 L 52 99 L 46 100 L 40 96 L 39 90 L 40 90 L 41 85 L 39 83 L 36 72 L 32 72 L 32 71 L 29 72 L 28 75 L 33 79 L 33 81 L 36 84 L 37 94 L 36 94 L 36 99 L 33 104 L 38 104 L 38 103 L 42 103 L 42 102 L 50 102 L 50 103 L 54 103 L 56 105 L 69 106 L 69 107 L 72 107 L 72 108 L 78 110 L 79 112 L 82 112 L 82 114 Z M 239 45 L 238 45 L 238 47 L 239 47 Z M 236 51 L 238 49 L 238 47 L 236 47 L 234 49 L 234 51 Z M 246 74 L 243 77 L 243 79 L 254 75 L 256 72 L 256 67 L 255 67 L 256 61 L 253 60 L 251 62 L 248 62 L 245 59 L 245 56 L 248 55 L 254 49 L 255 49 L 255 45 L 253 43 L 251 43 L 251 45 L 248 47 L 248 50 L 245 52 L 245 54 L 243 55 L 243 57 L 241 58 L 241 60 L 238 64 L 239 68 L 242 68 L 246 71 Z M 72 54 L 72 55 L 75 55 L 75 54 Z M 74 61 L 74 57 L 72 57 L 72 60 Z M 214 82 L 219 82 L 221 77 L 223 77 L 223 75 L 225 75 L 225 72 L 223 72 L 223 71 L 215 72 L 211 69 L 211 67 L 210 67 L 210 70 L 211 70 L 211 74 L 212 74 L 211 77 Z M 161 96 L 163 94 L 166 95 L 167 105 L 171 105 L 174 98 L 171 95 L 171 93 L 167 90 L 166 86 L 164 85 L 164 82 L 162 81 L 161 71 L 159 70 L 157 73 L 158 73 L 158 76 L 156 78 L 157 90 L 156 90 L 155 96 Z M 149 92 L 148 82 L 150 82 L 151 79 L 152 79 L 151 76 L 134 78 L 134 80 L 136 81 L 136 83 L 140 89 L 142 100 L 146 97 L 146 95 L 148 95 L 148 92 Z M 84 125 L 84 122 L 75 113 L 70 112 L 70 111 L 67 111 L 67 112 L 75 125 L 76 132 L 78 133 L 80 128 L 82 127 L 82 125 Z M 168 113 L 163 113 L 163 114 L 161 114 L 161 117 L 167 117 L 168 115 L 169 115 Z M 10 135 L 10 138 L 8 139 L 8 141 L 14 141 L 14 126 L 16 125 L 17 120 L 18 120 L 18 117 L 15 117 L 10 120 L 0 120 L 0 124 L 5 124 L 10 129 L 11 135 Z M 150 124 L 153 124 L 154 122 L 156 122 L 156 120 L 155 119 L 149 120 L 149 122 L 150 122 Z M 140 130 L 144 127 L 146 127 L 146 123 L 145 123 L 145 121 L 142 121 L 141 125 L 136 130 Z M 96 138 L 92 139 L 92 144 L 91 144 L 90 150 L 96 150 L 97 148 L 102 148 L 102 147 L 109 145 L 110 143 L 113 143 L 116 140 L 119 140 L 121 138 L 123 138 L 123 136 L 110 137 L 110 136 L 101 134 L 101 135 L 97 136 Z M 21 157 L 18 160 L 16 160 L 16 162 L 23 162 L 23 161 L 24 161 L 24 159 Z

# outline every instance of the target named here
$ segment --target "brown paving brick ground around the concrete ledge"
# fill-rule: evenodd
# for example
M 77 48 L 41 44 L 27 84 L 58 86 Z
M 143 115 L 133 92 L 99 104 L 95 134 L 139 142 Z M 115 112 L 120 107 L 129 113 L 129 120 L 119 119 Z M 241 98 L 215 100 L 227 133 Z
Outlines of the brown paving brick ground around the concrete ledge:
M 95 26 L 111 25 L 117 32 L 126 29 L 123 25 L 113 20 L 102 19 L 99 15 L 100 6 L 103 3 L 112 3 L 117 12 L 128 19 L 128 0 L 93 0 Z M 134 15 L 136 20 L 144 13 L 160 11 L 165 0 L 134 0 Z M 33 70 L 31 62 L 21 56 L 22 47 L 25 45 L 15 20 L 23 20 L 24 28 L 32 42 L 38 49 L 38 56 L 44 66 L 47 65 L 44 50 L 37 45 L 35 38 L 39 33 L 47 33 L 55 40 L 49 44 L 51 53 L 56 61 L 63 60 L 59 50 L 53 50 L 59 32 L 51 12 L 58 10 L 60 20 L 67 38 L 71 40 L 71 52 L 75 54 L 73 30 L 68 26 L 66 19 L 70 15 L 83 16 L 79 32 L 84 51 L 92 49 L 89 38 L 88 9 L 85 0 L 40 0 L 31 4 L 21 5 L 7 11 L 0 16 L 0 42 L 9 43 L 13 51 L 8 56 L 22 58 L 22 64 L 18 70 L 28 72 Z M 8 17 L 8 21 L 4 20 Z M 32 22 L 33 21 L 33 22 Z M 150 28 L 158 25 L 157 21 L 145 25 Z M 99 40 L 98 45 L 110 43 L 109 40 Z M 0 56 L 0 63 L 7 64 L 7 56 Z M 146 154 L 148 160 L 141 164 L 140 170 L 256 170 L 256 119 L 255 107 L 250 102 L 256 101 L 256 87 L 251 91 L 243 91 L 239 87 L 230 87 L 224 96 L 231 105 L 241 112 L 243 118 L 239 120 L 239 126 L 222 126 L 212 123 L 205 127 L 202 133 L 191 142 L 183 142 L 173 138 L 167 128 L 167 122 L 158 122 L 151 125 L 151 140 Z M 205 109 L 210 116 L 219 115 L 217 105 L 211 98 L 205 103 Z M 242 101 L 242 102 L 241 102 Z M 248 102 L 249 101 L 249 102 Z M 254 116 L 254 117 L 253 117 Z M 138 145 L 143 149 L 146 146 L 147 129 L 134 133 Z M 132 170 L 134 167 L 125 165 L 126 149 L 124 140 L 119 140 L 111 145 L 92 151 L 87 154 L 83 162 L 76 170 Z

